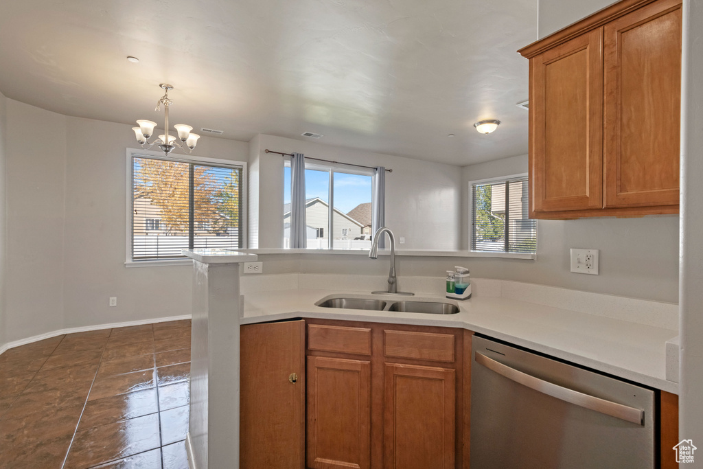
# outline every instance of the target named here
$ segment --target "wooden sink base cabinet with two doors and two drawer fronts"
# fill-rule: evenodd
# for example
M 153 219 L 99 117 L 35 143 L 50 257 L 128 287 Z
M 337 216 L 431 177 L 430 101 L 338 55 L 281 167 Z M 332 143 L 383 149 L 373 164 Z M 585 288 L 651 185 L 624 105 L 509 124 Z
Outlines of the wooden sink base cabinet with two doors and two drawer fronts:
M 468 468 L 470 333 L 307 322 L 308 468 Z

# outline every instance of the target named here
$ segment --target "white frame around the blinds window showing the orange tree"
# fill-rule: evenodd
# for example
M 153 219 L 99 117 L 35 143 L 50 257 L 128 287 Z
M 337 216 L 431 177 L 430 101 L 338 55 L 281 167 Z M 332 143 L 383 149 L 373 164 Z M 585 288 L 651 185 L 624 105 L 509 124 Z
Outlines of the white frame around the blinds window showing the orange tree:
M 164 155 L 160 151 L 152 150 L 142 150 L 141 148 L 127 148 L 126 162 L 126 174 L 127 174 L 127 185 L 125 191 L 125 198 L 127 200 L 127 213 L 126 213 L 126 235 L 125 235 L 125 257 L 124 266 L 126 267 L 153 267 L 153 266 L 174 266 L 174 265 L 192 265 L 193 259 L 188 259 L 188 257 L 183 257 L 183 259 L 150 259 L 144 261 L 136 261 L 132 259 L 132 240 L 133 240 L 133 230 L 134 230 L 134 157 L 144 157 L 152 158 L 155 160 L 166 160 L 166 161 L 179 161 L 189 164 L 202 164 L 202 165 L 225 165 L 225 166 L 237 166 L 242 168 L 242 175 L 240 180 L 240 241 L 242 249 L 247 246 L 247 162 L 239 160 L 225 160 L 222 158 L 207 158 L 203 156 L 195 155 L 181 155 L 181 154 L 171 154 Z

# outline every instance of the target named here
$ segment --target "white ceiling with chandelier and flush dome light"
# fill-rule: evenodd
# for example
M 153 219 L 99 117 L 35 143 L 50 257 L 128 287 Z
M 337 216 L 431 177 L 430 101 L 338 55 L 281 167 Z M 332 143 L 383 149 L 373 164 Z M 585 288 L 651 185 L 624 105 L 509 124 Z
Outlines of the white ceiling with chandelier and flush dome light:
M 312 131 L 468 165 L 527 153 L 516 51 L 536 23 L 537 0 L 5 0 L 0 91 L 65 115 L 162 123 L 166 82 L 171 121 L 196 131 Z M 502 124 L 485 136 L 472 125 L 482 119 Z

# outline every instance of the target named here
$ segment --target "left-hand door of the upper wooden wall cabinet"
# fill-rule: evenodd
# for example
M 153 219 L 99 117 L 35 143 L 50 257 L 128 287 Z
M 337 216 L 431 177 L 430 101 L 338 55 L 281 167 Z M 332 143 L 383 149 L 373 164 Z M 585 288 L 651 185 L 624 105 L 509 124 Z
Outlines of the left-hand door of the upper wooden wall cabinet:
M 602 207 L 602 28 L 530 59 L 530 212 Z

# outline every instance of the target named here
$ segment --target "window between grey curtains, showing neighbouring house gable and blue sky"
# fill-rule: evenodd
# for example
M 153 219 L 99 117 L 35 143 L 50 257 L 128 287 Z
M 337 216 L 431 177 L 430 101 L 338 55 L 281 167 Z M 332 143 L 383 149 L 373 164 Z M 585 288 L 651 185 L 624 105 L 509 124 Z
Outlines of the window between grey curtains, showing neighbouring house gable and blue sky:
M 373 169 L 305 163 L 308 249 L 370 249 L 368 236 L 363 239 L 362 235 L 370 232 L 373 174 Z M 290 160 L 285 163 L 283 183 L 283 245 L 288 248 Z M 330 200 L 333 200 L 331 207 Z

